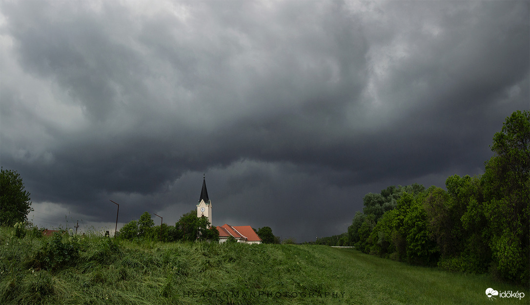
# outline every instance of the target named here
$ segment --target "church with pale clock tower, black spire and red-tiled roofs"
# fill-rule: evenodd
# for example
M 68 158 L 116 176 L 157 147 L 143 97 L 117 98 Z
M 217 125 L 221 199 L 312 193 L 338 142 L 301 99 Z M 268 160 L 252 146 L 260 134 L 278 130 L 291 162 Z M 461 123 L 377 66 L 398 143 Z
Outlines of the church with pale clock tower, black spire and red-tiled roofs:
M 200 192 L 199 203 L 197 203 L 197 217 L 208 217 L 211 221 L 211 200 L 208 198 L 208 191 L 206 190 L 206 178 L 202 178 L 202 189 Z M 251 226 L 237 226 L 223 225 L 217 227 L 219 231 L 219 243 L 224 243 L 229 237 L 233 236 L 238 243 L 245 244 L 261 244 L 261 238 L 254 232 Z

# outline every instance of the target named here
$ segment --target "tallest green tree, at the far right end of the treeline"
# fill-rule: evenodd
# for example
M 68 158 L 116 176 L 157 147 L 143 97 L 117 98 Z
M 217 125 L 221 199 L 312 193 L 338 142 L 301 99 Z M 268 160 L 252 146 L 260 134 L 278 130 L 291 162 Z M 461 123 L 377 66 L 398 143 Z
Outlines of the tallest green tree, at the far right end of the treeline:
M 515 111 L 493 136 L 494 156 L 482 185 L 494 267 L 510 280 L 530 282 L 530 112 Z

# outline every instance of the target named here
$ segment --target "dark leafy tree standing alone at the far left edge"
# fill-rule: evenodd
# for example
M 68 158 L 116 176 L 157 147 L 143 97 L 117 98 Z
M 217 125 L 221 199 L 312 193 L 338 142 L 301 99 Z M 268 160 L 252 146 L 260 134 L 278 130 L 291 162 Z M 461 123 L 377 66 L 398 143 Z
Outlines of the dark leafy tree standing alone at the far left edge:
M 1 168 L 0 225 L 13 226 L 16 222 L 24 222 L 31 211 L 30 193 L 25 190 L 20 174 Z

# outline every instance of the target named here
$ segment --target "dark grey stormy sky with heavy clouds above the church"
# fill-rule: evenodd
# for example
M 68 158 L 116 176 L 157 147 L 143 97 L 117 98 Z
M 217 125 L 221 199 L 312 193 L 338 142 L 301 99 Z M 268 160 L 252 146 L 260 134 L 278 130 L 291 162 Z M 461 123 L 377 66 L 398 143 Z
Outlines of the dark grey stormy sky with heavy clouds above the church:
M 206 173 L 216 226 L 340 234 L 483 173 L 530 107 L 529 3 L 2 0 L 0 163 L 41 227 L 174 225 Z

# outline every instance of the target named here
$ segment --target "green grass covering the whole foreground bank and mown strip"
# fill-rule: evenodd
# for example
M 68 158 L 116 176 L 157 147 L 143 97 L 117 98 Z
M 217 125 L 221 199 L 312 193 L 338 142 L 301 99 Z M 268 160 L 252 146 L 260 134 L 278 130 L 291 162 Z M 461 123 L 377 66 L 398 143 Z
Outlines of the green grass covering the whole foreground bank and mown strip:
M 7 304 L 528 304 L 528 289 L 314 245 L 52 238 L 0 230 Z M 59 245 L 59 246 L 60 246 Z M 48 258 L 47 258 L 48 257 Z M 525 297 L 488 299 L 487 288 Z

